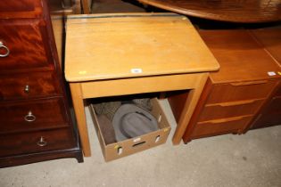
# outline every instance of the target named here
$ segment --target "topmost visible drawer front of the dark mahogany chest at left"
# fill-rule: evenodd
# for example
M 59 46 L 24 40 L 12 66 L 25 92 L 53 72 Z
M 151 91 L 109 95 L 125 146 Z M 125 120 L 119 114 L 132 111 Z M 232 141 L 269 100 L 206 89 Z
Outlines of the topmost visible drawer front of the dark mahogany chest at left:
M 0 18 L 36 18 L 42 14 L 41 0 L 2 0 Z

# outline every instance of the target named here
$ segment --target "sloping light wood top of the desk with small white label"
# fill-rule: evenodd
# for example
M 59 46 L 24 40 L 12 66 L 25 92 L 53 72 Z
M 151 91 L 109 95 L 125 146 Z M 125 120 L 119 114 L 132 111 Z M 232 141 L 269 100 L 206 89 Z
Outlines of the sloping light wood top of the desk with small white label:
M 69 16 L 65 58 L 70 82 L 219 69 L 191 22 L 174 13 Z

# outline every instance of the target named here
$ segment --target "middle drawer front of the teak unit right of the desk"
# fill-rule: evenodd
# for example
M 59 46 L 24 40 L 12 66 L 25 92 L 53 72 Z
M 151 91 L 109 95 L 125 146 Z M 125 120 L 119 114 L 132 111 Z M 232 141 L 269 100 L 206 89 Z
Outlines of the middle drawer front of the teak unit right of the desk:
M 243 102 L 223 102 L 206 105 L 202 110 L 199 122 L 218 118 L 233 118 L 253 115 L 260 109 L 264 100 L 248 100 Z

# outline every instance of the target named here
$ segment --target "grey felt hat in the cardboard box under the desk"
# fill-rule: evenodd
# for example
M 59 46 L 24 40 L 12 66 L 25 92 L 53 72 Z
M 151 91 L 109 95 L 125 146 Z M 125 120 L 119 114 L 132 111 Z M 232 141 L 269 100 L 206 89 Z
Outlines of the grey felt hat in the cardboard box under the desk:
M 132 103 L 120 106 L 113 116 L 112 126 L 118 142 L 159 129 L 150 112 Z

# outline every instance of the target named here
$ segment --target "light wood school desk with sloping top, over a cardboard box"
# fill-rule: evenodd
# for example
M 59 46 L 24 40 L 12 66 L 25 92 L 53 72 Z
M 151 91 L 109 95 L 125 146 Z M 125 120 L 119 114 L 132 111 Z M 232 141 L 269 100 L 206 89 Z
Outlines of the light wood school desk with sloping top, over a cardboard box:
M 84 155 L 90 156 L 84 99 L 191 89 L 178 121 L 178 144 L 208 71 L 219 69 L 186 17 L 174 13 L 69 16 L 65 77 Z

